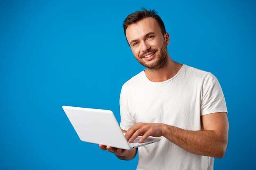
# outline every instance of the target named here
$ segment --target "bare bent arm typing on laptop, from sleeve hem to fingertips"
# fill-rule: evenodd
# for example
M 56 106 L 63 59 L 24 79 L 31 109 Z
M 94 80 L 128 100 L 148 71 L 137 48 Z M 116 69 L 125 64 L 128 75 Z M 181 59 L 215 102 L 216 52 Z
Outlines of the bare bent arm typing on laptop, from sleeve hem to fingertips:
M 228 141 L 229 123 L 227 114 L 211 113 L 201 116 L 204 130 L 192 131 L 166 124 L 139 123 L 132 126 L 126 133 L 126 139 L 132 142 L 137 136 L 143 135 L 139 142 L 148 136 L 164 136 L 177 146 L 197 155 L 222 158 Z

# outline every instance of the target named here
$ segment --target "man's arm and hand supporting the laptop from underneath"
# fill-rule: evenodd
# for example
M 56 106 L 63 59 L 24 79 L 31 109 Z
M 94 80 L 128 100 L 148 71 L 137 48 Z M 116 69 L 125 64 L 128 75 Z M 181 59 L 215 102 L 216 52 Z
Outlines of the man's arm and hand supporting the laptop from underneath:
M 122 130 L 124 133 L 127 131 Z M 119 159 L 130 160 L 136 156 L 137 148 L 131 150 L 125 150 L 120 148 L 113 148 L 111 146 L 104 146 L 103 144 L 99 144 L 99 147 L 102 150 L 108 150 L 108 152 L 114 153 Z

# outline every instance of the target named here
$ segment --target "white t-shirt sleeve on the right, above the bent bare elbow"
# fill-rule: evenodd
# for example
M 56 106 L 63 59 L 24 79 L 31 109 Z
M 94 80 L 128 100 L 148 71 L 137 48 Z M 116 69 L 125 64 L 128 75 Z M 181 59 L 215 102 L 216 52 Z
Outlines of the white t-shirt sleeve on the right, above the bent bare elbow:
M 201 116 L 217 112 L 227 113 L 225 97 L 218 79 L 213 74 L 208 73 L 202 88 Z

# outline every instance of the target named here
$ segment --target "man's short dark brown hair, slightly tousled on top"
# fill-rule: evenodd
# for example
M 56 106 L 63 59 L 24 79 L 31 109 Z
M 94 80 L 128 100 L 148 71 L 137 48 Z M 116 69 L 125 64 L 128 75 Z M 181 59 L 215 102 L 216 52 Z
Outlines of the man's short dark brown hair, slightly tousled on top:
M 157 15 L 157 11 L 155 11 L 154 9 L 153 10 L 150 9 L 148 11 L 145 8 L 142 8 L 142 11 L 136 11 L 135 13 L 131 13 L 126 17 L 123 24 L 124 35 L 126 36 L 126 29 L 129 25 L 135 24 L 136 22 L 139 22 L 140 20 L 143 20 L 144 18 L 148 18 L 148 17 L 152 17 L 157 21 L 162 31 L 162 34 L 164 35 L 166 33 L 164 22 L 159 17 L 159 15 Z

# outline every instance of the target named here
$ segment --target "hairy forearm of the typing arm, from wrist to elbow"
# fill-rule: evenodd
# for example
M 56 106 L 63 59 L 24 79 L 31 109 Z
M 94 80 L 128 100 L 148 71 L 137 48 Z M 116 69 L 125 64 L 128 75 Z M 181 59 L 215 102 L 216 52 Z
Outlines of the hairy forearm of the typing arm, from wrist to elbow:
M 163 132 L 166 139 L 197 155 L 221 158 L 227 148 L 227 139 L 214 130 L 192 131 L 164 125 Z

